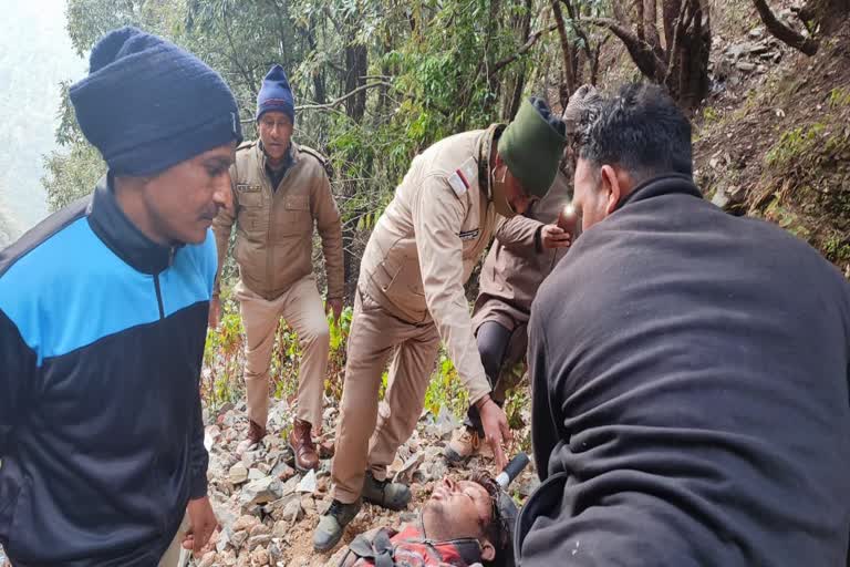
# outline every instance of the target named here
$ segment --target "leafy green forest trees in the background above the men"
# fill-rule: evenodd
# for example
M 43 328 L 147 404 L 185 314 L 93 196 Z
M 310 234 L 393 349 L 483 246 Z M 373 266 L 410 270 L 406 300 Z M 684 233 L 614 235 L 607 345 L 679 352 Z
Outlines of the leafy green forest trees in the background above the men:
M 532 30 L 546 31 L 548 7 L 543 0 L 70 0 L 68 29 L 81 55 L 124 24 L 184 45 L 230 84 L 249 135 L 261 79 L 281 63 L 294 90 L 297 140 L 329 155 L 346 226 L 369 231 L 416 153 L 449 134 L 510 118 L 517 94 L 548 86 L 540 73 L 533 81 L 529 75 L 548 64 L 551 38 L 541 34 L 519 53 Z M 333 101 L 350 90 L 356 49 L 367 64 L 353 84 L 369 89 L 362 112 L 348 106 L 357 96 L 343 112 Z M 532 64 L 536 49 L 539 65 Z M 53 175 L 43 181 L 56 204 L 83 190 L 75 184 L 84 179 L 65 176 L 64 166 L 91 156 L 79 147 L 86 142 L 66 97 L 60 115 L 56 138 L 71 156 L 51 155 Z

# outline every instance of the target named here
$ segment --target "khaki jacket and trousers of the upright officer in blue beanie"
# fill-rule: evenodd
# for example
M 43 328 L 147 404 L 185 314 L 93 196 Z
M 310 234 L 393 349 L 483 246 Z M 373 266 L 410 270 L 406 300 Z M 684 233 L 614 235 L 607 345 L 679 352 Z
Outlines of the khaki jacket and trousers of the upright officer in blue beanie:
M 236 298 L 246 333 L 249 419 L 266 426 L 271 351 L 283 317 L 296 330 L 302 351 L 298 419 L 317 430 L 322 422 L 330 332 L 313 276 L 313 228 L 318 228 L 322 240 L 328 298 L 334 299 L 343 296 L 342 226 L 324 157 L 293 142 L 291 158 L 274 188 L 266 173 L 266 154 L 260 144 L 242 144 L 230 169 L 235 210 L 221 209 L 212 229 L 220 275 L 231 227 L 236 225 Z M 216 281 L 218 292 L 218 278 Z

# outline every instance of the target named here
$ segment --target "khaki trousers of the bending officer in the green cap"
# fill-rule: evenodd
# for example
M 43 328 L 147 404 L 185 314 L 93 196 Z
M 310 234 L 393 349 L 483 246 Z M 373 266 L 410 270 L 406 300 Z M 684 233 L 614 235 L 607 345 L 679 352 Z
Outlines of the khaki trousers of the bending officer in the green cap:
M 360 289 L 349 334 L 345 383 L 333 458 L 333 497 L 350 504 L 363 489 L 366 466 L 374 477 L 410 439 L 425 403 L 439 334 L 433 321 L 408 323 L 390 315 Z M 392 357 L 384 400 L 381 375 Z

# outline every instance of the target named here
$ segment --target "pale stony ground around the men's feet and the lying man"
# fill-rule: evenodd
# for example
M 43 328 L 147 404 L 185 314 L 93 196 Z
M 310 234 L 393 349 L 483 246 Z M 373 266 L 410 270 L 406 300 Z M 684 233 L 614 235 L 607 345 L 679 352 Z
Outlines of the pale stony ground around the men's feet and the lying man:
M 324 412 L 321 437 L 326 454 L 335 430 L 335 408 Z M 319 515 L 330 505 L 331 458 L 322 460 L 317 473 L 301 474 L 292 468 L 292 453 L 274 432 L 283 432 L 292 412 L 279 401 L 269 414 L 271 432 L 260 445 L 246 447 L 243 404 L 227 405 L 207 415 L 206 444 L 210 453 L 209 494 L 221 529 L 211 549 L 194 559 L 194 565 L 210 566 L 335 566 L 355 535 L 369 529 L 397 527 L 417 517 L 419 505 L 431 494 L 434 482 L 446 474 L 467 477 L 473 471 L 493 470 L 491 461 L 475 457 L 462 468 L 449 470 L 443 449 L 457 426 L 447 411 L 423 413 L 411 440 L 398 451 L 391 466 L 397 481 L 411 484 L 414 498 L 407 511 L 390 512 L 364 504 L 361 514 L 346 529 L 336 549 L 319 554 L 312 548 L 312 530 Z M 528 420 L 526 420 L 528 422 Z M 520 432 L 521 433 L 521 432 Z M 517 435 L 521 439 L 521 435 Z M 518 447 L 511 447 L 511 454 Z M 512 485 L 518 501 L 533 489 L 537 477 L 530 466 Z

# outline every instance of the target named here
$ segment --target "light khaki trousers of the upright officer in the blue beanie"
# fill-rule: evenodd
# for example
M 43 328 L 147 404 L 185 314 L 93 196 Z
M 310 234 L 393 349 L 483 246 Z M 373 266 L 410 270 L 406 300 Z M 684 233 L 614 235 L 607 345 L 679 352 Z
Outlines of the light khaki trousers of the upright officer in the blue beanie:
M 296 281 L 280 297 L 271 301 L 248 289 L 240 280 L 236 298 L 245 326 L 245 386 L 248 398 L 248 417 L 266 426 L 269 415 L 269 368 L 274 333 L 280 318 L 298 334 L 301 346 L 301 365 L 298 372 L 299 420 L 309 422 L 313 433 L 322 425 L 322 394 L 328 370 L 330 330 L 315 278 L 308 276 Z

